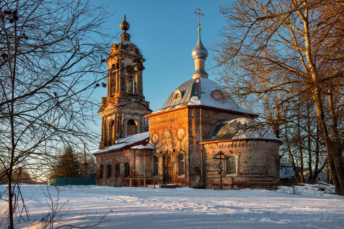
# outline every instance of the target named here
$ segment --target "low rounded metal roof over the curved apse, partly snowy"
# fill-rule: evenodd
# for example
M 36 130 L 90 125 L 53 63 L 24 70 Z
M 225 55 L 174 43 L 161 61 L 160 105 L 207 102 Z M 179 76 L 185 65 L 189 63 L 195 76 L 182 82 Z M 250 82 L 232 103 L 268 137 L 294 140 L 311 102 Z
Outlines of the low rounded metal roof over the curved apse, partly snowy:
M 269 134 L 266 128 L 258 126 L 250 118 L 235 118 L 215 124 L 209 135 L 202 142 L 227 139 L 269 139 L 281 141 L 281 139 Z

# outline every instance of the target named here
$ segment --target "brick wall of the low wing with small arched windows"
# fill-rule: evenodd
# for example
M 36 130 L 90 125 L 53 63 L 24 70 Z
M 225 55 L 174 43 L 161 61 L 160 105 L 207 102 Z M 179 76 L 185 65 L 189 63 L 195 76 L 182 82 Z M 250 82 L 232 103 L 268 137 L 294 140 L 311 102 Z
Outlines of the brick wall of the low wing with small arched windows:
M 95 154 L 97 161 L 96 184 L 115 187 L 129 186 L 124 177 L 124 164 L 129 163 L 129 176 L 133 178 L 152 177 L 152 150 L 127 149 L 108 153 Z M 107 165 L 111 165 L 111 177 L 107 178 Z M 116 164 L 120 164 L 120 176 L 115 177 Z M 99 167 L 104 166 L 103 178 L 99 177 Z M 135 185 L 138 181 L 136 181 Z M 134 183 L 132 183 L 134 185 Z M 143 184 L 143 183 L 142 183 Z

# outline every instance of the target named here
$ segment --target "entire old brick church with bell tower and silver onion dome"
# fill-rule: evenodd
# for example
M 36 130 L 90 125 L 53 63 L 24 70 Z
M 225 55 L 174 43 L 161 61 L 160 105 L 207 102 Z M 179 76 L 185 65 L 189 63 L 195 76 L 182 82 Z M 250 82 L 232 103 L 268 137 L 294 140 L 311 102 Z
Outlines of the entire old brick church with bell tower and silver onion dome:
M 221 171 L 223 188 L 277 187 L 282 142 L 257 127 L 258 115 L 225 98 L 225 90 L 208 79 L 200 27 L 192 50 L 195 71 L 171 88 L 158 111 L 144 99 L 145 59 L 130 42 L 129 27 L 124 17 L 121 42 L 112 45 L 107 59 L 107 95 L 98 112 L 101 141 L 94 153 L 97 185 L 154 178 L 156 184 L 219 188 Z M 224 160 L 214 159 L 216 154 Z

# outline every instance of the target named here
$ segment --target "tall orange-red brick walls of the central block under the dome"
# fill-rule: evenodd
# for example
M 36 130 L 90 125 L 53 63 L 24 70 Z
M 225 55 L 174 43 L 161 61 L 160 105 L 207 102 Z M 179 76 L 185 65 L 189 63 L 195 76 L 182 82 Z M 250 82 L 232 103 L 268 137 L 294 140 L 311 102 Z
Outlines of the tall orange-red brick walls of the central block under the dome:
M 204 188 L 204 156 L 199 144 L 207 136 L 212 127 L 222 121 L 242 117 L 228 111 L 209 110 L 201 107 L 187 107 L 149 117 L 150 140 L 154 144 L 153 135 L 159 136 L 154 144 L 159 157 L 159 178 L 163 179 L 163 155 L 168 152 L 172 156 L 172 183 L 193 188 Z M 185 137 L 179 139 L 177 131 L 183 128 Z M 164 138 L 166 131 L 171 136 Z M 177 174 L 177 155 L 185 152 L 185 176 Z

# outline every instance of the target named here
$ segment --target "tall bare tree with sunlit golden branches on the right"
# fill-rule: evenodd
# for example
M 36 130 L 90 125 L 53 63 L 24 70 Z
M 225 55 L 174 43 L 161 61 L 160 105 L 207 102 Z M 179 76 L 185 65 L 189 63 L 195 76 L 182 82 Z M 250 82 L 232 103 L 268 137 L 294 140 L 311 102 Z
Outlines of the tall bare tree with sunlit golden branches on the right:
M 235 1 L 221 12 L 228 25 L 214 45 L 219 80 L 241 100 L 280 93 L 272 109 L 293 109 L 283 122 L 297 122 L 299 156 L 303 138 L 323 145 L 336 193 L 344 195 L 343 0 Z M 305 103 L 314 116 L 302 113 Z

